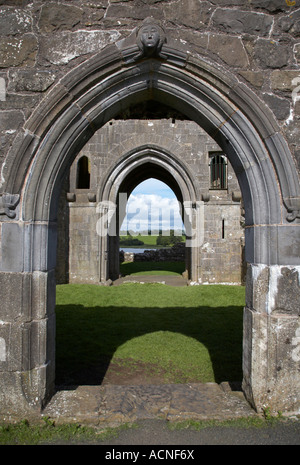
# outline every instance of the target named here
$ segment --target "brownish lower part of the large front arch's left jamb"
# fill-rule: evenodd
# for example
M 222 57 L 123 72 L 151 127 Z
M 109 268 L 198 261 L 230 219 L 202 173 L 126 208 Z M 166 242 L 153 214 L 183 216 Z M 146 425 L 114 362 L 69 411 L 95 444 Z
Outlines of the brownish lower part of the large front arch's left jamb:
M 28 417 L 54 393 L 54 271 L 0 272 L 0 286 L 0 414 Z

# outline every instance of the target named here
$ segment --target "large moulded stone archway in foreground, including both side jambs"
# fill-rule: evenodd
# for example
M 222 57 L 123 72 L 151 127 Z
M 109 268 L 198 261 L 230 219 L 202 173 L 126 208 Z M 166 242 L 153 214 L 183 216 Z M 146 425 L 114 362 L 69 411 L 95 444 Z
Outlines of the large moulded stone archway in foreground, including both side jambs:
M 164 43 L 103 49 L 47 94 L 2 170 L 1 412 L 40 412 L 54 391 L 55 250 L 60 186 L 95 130 L 144 100 L 179 109 L 228 156 L 246 213 L 243 388 L 260 410 L 299 410 L 299 180 L 268 108 L 207 61 Z M 293 300 L 289 298 L 293 295 Z

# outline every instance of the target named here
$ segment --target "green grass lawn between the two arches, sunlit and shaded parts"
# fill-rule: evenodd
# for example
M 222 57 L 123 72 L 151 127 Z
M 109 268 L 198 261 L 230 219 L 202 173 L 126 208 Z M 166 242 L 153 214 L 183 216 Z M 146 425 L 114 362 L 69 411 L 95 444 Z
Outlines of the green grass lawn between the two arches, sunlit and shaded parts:
M 134 360 L 164 370 L 165 382 L 239 381 L 244 300 L 241 286 L 59 285 L 57 383 Z

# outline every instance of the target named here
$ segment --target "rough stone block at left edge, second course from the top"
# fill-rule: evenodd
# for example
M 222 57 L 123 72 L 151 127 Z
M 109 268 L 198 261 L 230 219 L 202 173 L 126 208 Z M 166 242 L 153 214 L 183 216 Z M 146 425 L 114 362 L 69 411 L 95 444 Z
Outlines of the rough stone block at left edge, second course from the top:
M 0 37 L 0 66 L 33 66 L 37 49 L 37 39 L 33 34 L 25 34 L 21 38 Z

